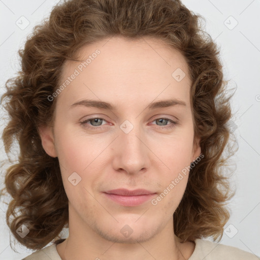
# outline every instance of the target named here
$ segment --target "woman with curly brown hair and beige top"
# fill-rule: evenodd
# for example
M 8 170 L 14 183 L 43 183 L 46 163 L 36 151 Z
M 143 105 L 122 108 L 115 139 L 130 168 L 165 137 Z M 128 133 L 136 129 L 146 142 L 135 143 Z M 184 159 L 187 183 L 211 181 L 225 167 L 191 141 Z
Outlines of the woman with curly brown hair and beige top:
M 203 240 L 229 219 L 231 96 L 198 22 L 180 1 L 74 0 L 35 28 L 2 97 L 24 259 L 257 258 Z

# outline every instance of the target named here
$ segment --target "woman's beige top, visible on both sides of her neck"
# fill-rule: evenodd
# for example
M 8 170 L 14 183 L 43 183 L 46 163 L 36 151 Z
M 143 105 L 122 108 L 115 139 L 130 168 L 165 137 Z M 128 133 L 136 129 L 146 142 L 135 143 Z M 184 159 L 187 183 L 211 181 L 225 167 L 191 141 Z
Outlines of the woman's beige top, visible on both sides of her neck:
M 59 239 L 61 243 L 64 239 Z M 213 243 L 208 240 L 197 239 L 194 241 L 196 246 L 192 255 L 187 260 L 260 260 L 255 254 L 248 253 L 233 246 Z M 23 258 L 22 260 L 62 260 L 56 250 L 56 244 L 53 243 L 44 249 Z

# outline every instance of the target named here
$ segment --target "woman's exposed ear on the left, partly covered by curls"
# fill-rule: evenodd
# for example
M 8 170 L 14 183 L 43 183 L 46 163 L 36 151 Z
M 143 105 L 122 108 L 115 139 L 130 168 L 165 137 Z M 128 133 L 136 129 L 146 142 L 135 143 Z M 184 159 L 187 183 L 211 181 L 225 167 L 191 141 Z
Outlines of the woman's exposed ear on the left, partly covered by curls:
M 57 157 L 54 144 L 53 128 L 51 126 L 40 126 L 38 129 L 45 152 L 51 157 Z

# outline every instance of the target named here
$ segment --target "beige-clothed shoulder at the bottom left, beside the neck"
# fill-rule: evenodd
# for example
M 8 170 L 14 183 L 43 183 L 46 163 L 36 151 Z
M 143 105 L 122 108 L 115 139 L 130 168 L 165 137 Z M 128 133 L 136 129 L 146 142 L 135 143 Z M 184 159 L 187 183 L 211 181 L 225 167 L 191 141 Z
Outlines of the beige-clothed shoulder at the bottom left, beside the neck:
M 50 246 L 47 246 L 41 250 L 38 250 L 28 256 L 26 256 L 25 258 L 21 259 L 21 260 L 61 260 L 60 256 L 57 253 L 56 250 L 56 244 L 53 243 Z

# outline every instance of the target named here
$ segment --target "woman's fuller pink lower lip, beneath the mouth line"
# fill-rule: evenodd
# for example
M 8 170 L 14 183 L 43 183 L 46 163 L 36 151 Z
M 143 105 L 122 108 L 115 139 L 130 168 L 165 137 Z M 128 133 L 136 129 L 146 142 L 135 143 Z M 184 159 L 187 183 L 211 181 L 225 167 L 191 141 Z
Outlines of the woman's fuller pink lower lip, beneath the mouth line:
M 138 206 L 145 203 L 148 200 L 151 200 L 152 197 L 156 194 L 146 194 L 146 195 L 139 195 L 139 196 L 121 196 L 116 194 L 108 194 L 104 193 L 109 199 L 112 201 L 123 205 L 123 206 Z

